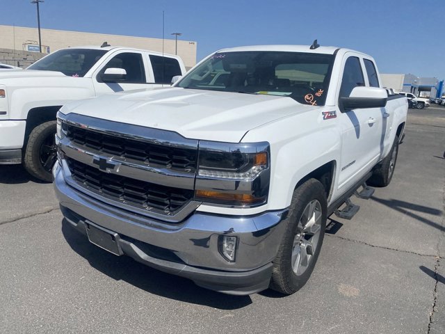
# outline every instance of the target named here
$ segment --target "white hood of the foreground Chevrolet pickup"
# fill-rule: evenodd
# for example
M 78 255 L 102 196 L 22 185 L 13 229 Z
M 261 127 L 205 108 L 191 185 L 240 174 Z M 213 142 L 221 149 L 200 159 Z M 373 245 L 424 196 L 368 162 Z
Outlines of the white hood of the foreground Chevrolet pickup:
M 316 108 L 291 97 L 160 88 L 71 102 L 60 111 L 236 143 L 254 127 Z

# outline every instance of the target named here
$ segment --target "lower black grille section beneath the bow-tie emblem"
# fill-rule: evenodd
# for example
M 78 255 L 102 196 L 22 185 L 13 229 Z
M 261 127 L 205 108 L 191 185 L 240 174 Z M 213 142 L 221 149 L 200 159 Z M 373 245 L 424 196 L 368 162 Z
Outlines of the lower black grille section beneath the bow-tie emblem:
M 67 158 L 67 165 L 73 180 L 83 188 L 133 207 L 155 208 L 169 214 L 184 207 L 193 197 L 192 190 L 106 173 L 71 158 Z

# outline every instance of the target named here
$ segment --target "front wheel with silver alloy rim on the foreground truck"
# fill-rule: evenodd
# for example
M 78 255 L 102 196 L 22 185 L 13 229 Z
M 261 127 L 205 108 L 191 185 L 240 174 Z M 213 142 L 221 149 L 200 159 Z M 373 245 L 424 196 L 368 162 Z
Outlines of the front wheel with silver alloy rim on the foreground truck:
M 293 294 L 309 280 L 323 244 L 326 212 L 325 189 L 318 180 L 307 180 L 293 192 L 286 232 L 273 260 L 271 289 Z

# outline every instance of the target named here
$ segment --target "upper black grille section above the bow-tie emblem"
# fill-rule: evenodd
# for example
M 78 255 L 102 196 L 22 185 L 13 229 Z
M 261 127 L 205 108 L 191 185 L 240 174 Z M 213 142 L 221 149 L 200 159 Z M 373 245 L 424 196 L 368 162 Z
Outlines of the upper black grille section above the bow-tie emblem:
M 92 148 L 96 152 L 113 154 L 118 157 L 143 161 L 145 164 L 156 164 L 165 168 L 194 172 L 197 164 L 197 150 L 156 145 L 145 141 L 112 136 L 64 125 L 67 137 L 73 143 Z

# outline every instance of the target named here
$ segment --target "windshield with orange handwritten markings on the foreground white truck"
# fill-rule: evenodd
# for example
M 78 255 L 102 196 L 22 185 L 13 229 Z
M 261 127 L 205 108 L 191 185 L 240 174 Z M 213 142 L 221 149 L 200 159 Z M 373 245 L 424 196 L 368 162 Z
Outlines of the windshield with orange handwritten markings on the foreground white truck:
M 239 51 L 213 54 L 177 85 L 182 88 L 289 96 L 302 104 L 325 104 L 331 54 Z

